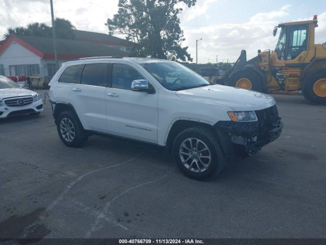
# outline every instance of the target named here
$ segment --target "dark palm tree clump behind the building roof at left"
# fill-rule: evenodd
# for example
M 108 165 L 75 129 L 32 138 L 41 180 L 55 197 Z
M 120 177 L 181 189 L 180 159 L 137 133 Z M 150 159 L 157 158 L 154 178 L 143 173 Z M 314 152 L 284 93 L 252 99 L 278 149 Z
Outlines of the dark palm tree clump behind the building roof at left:
M 55 22 L 56 34 L 58 38 L 74 39 L 75 36 L 73 30 L 75 27 L 69 20 L 56 18 Z M 8 39 L 11 35 L 52 37 L 52 27 L 47 26 L 45 23 L 34 22 L 28 24 L 27 27 L 8 28 L 4 38 Z

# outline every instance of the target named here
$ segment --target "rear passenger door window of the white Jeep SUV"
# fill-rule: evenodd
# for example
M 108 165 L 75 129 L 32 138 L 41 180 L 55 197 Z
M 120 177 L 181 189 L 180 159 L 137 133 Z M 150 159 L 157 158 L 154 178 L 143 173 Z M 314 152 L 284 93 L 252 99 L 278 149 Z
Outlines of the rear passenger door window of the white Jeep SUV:
M 81 84 L 106 87 L 108 64 L 87 64 L 84 67 Z

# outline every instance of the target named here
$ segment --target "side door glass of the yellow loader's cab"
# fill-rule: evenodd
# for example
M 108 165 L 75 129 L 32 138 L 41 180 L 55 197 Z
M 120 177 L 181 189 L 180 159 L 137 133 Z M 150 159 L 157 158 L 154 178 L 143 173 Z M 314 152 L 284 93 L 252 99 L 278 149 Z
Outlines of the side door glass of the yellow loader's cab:
M 289 29 L 289 49 L 286 59 L 293 60 L 307 50 L 308 25 L 293 26 Z

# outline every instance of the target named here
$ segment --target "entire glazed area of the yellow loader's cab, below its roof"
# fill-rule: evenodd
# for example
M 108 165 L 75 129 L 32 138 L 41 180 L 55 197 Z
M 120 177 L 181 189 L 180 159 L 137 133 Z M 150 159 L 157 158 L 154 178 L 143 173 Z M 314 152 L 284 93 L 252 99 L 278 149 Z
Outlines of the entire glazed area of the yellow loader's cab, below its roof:
M 279 26 L 281 28 L 275 52 L 279 60 L 294 60 L 308 48 L 309 24 Z

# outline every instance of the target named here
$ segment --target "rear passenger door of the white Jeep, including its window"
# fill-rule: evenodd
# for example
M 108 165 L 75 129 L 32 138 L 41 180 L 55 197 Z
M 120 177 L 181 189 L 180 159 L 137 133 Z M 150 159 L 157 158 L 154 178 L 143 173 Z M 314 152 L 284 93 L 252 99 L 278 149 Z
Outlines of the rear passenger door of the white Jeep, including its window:
M 89 63 L 83 67 L 79 84 L 71 87 L 70 103 L 86 130 L 106 132 L 105 90 L 108 63 Z

